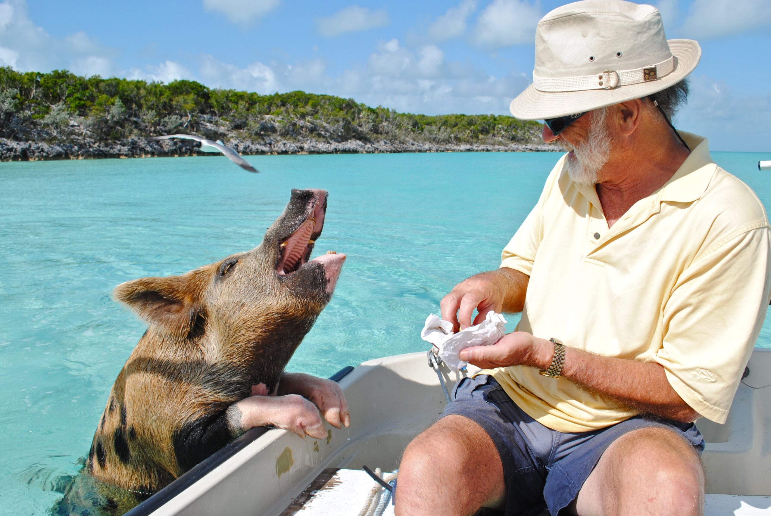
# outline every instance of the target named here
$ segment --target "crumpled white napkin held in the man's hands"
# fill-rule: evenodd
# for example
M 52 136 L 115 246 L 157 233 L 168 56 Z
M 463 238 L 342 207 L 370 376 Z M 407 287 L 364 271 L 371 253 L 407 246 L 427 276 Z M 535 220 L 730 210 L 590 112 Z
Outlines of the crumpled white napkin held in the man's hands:
M 461 370 L 469 365 L 460 360 L 458 353 L 466 347 L 488 346 L 506 335 L 506 319 L 503 315 L 488 312 L 487 317 L 476 326 L 471 326 L 458 333 L 453 333 L 453 323 L 431 314 L 426 317 L 426 325 L 420 332 L 420 338 L 439 348 L 439 358 L 451 370 Z

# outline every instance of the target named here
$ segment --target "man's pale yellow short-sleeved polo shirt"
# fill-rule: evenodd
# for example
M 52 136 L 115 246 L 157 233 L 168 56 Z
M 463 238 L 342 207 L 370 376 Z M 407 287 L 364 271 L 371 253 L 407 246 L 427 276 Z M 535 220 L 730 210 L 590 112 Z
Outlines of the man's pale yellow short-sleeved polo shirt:
M 755 193 L 712 162 L 707 140 L 681 135 L 693 149 L 685 163 L 610 229 L 594 186 L 574 183 L 563 156 L 500 266 L 530 276 L 518 330 L 661 364 L 687 404 L 724 423 L 769 305 L 771 230 Z M 487 372 L 557 431 L 638 414 L 533 367 Z

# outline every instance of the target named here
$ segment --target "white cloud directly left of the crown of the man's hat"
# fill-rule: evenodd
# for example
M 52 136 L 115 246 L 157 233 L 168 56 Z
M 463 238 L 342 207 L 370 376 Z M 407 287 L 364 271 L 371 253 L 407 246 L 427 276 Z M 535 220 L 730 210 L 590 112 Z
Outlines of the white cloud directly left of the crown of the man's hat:
M 490 49 L 532 45 L 540 8 L 524 0 L 494 0 L 476 21 L 474 41 Z

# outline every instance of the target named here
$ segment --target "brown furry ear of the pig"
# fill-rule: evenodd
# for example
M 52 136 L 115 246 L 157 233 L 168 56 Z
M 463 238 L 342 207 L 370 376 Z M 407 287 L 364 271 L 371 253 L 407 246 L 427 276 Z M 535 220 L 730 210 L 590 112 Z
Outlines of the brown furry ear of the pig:
M 185 337 L 202 314 L 204 289 L 210 273 L 193 270 L 183 276 L 149 277 L 115 287 L 113 297 L 153 326 Z

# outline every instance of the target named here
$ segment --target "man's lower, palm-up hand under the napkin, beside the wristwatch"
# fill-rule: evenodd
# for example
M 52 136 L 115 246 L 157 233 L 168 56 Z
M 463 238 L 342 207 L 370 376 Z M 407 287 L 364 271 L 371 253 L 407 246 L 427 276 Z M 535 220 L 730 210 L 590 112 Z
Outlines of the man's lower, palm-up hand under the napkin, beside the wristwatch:
M 461 350 L 460 360 L 482 369 L 518 365 L 543 368 L 542 364 L 551 360 L 547 348 L 543 339 L 537 339 L 524 331 L 515 331 L 507 333 L 490 346 L 474 346 Z

